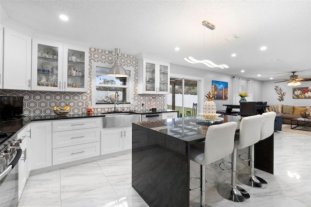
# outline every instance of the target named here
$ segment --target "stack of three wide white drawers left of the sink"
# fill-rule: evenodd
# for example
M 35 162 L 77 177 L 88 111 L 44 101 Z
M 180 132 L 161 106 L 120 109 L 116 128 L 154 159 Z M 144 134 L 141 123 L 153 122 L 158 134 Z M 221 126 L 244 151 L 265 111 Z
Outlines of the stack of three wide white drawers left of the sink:
M 53 121 L 53 165 L 100 155 L 100 119 Z

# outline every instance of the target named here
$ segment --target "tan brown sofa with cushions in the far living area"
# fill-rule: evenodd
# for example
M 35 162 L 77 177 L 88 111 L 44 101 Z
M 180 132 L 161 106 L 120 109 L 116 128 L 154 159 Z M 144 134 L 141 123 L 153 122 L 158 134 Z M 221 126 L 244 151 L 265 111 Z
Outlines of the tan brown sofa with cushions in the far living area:
M 269 105 L 266 111 L 276 112 L 276 116 L 282 117 L 282 123 L 291 124 L 291 120 L 301 118 L 300 112 L 311 114 L 311 106 L 294 106 L 294 105 Z M 311 116 L 308 117 L 311 119 Z

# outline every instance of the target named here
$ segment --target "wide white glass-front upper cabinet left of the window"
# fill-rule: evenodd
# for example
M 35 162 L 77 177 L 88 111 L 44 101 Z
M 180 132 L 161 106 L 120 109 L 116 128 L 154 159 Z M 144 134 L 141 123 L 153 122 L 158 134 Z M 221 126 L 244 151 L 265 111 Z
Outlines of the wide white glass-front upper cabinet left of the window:
M 88 48 L 33 40 L 32 90 L 87 92 Z

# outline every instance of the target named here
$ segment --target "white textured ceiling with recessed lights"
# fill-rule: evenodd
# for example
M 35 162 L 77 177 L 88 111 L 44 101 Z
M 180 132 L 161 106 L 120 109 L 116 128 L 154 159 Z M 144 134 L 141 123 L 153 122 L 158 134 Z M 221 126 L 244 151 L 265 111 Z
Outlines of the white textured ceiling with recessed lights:
M 310 0 L 0 0 L 1 22 L 65 36 L 89 47 L 165 59 L 171 63 L 256 80 L 311 78 Z M 66 14 L 68 22 L 58 16 Z M 211 31 L 202 26 L 216 25 Z M 221 41 L 230 35 L 239 39 Z M 261 46 L 267 50 L 259 50 Z M 180 51 L 174 51 L 179 47 Z M 236 57 L 231 57 L 236 53 Z M 209 59 L 209 69 L 184 58 Z M 241 73 L 241 70 L 245 70 Z M 260 77 L 257 75 L 261 74 Z

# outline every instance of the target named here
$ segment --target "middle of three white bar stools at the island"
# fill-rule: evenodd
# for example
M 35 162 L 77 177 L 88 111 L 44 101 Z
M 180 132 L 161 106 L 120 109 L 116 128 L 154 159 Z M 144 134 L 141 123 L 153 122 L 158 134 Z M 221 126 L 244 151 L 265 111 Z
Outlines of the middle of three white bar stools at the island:
M 222 183 L 217 187 L 219 194 L 225 199 L 232 202 L 247 203 L 250 199 L 249 193 L 241 187 L 237 186 L 235 182 L 237 167 L 237 149 L 243 149 L 259 141 L 261 122 L 261 115 L 244 117 L 241 120 L 239 132 L 240 138 L 239 141 L 234 142 L 234 149 L 231 158 L 231 184 Z

